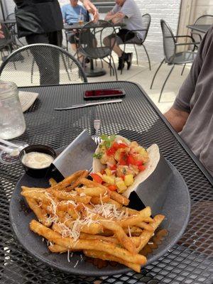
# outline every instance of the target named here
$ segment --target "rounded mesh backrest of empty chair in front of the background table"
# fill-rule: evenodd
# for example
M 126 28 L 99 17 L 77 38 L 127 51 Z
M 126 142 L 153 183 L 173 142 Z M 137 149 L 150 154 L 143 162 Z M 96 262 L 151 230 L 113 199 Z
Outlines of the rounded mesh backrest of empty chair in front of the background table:
M 111 54 L 115 44 L 115 41 L 113 43 L 109 40 L 109 43 L 104 45 L 104 38 L 109 35 L 116 35 L 114 25 L 109 21 L 99 20 L 97 23 L 86 23 L 79 34 L 80 49 L 88 58 L 105 58 Z

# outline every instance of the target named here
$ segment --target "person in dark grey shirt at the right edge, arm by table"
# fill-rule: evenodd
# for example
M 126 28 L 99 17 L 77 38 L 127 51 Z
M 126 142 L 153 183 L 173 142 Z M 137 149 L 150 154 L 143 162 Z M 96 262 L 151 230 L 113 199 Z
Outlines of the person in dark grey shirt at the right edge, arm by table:
M 173 107 L 164 115 L 213 176 L 213 26 L 204 35 Z

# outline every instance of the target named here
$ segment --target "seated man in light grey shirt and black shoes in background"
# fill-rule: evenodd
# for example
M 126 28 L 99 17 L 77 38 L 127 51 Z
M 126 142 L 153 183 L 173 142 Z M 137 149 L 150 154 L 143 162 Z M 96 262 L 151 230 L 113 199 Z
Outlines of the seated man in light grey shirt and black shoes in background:
M 119 45 L 122 45 L 131 39 L 136 39 L 138 41 L 143 39 L 143 31 L 132 31 L 143 29 L 142 16 L 140 9 L 134 0 L 116 0 L 115 2 L 116 5 L 107 13 L 105 20 L 111 21 L 112 23 L 125 23 L 126 27 L 121 28 L 120 31 L 116 33 L 116 38 L 114 38 L 114 35 L 109 35 L 107 38 L 104 38 L 104 45 L 112 46 L 114 40 L 116 40 L 113 50 L 119 57 L 118 70 L 124 68 L 125 62 L 127 63 L 127 70 L 129 70 L 133 53 L 124 53 Z

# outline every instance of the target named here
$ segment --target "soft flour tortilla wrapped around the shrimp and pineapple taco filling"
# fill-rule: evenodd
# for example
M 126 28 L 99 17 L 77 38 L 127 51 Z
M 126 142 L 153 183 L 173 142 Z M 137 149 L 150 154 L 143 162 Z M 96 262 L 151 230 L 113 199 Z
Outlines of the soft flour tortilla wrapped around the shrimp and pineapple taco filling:
M 130 141 L 127 140 L 124 137 L 121 136 L 116 136 L 117 138 L 122 138 L 126 140 L 126 143 L 129 144 Z M 99 153 L 99 147 L 97 147 L 95 153 L 98 154 Z M 146 163 L 146 169 L 143 170 L 143 172 L 138 173 L 138 175 L 136 175 L 136 177 L 134 178 L 134 182 L 132 185 L 130 185 L 129 187 L 127 187 L 127 190 L 123 193 L 124 196 L 129 197 L 129 195 L 131 194 L 131 192 L 133 192 L 133 190 L 136 189 L 136 187 L 143 182 L 144 180 L 146 180 L 151 173 L 153 173 L 153 171 L 155 170 L 155 168 L 158 165 L 158 162 L 160 160 L 160 151 L 158 148 L 157 144 L 153 144 L 151 145 L 148 149 L 146 149 L 148 151 L 148 156 L 149 156 L 149 160 Z M 99 159 L 94 158 L 93 159 L 93 163 L 92 163 L 92 171 L 93 173 L 97 173 L 100 172 L 101 170 L 105 169 L 106 165 L 102 165 L 102 163 L 100 162 Z

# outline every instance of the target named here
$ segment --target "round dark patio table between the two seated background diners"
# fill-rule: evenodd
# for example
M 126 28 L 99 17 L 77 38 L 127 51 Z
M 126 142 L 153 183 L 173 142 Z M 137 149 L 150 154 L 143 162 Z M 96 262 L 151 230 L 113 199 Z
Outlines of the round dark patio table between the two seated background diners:
M 64 29 L 65 29 L 65 31 L 81 30 L 83 28 L 83 26 L 84 25 L 80 25 L 80 23 L 73 23 L 72 25 L 65 24 Z M 125 23 L 114 24 L 115 28 L 124 27 L 124 26 L 126 26 Z M 101 27 L 102 27 L 102 25 L 99 22 L 97 22 L 97 23 L 91 22 L 91 28 L 101 28 Z M 87 26 L 87 28 L 89 28 L 89 26 Z M 87 77 L 99 77 L 99 76 L 105 75 L 106 71 L 103 68 L 94 67 L 93 60 L 90 60 L 90 68 L 88 69 L 86 67 L 85 73 L 86 73 Z

